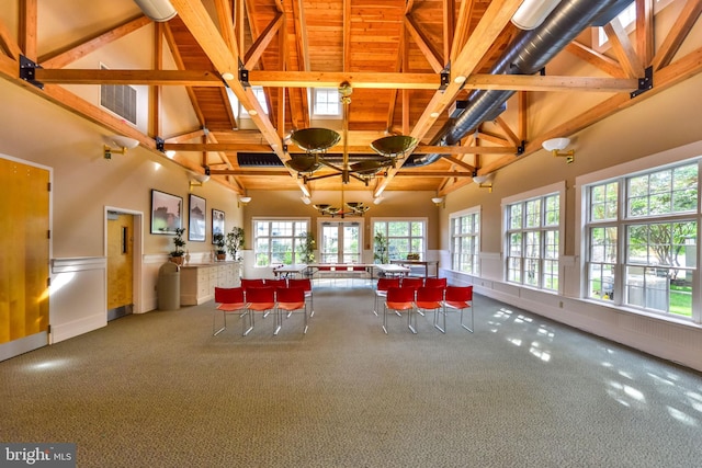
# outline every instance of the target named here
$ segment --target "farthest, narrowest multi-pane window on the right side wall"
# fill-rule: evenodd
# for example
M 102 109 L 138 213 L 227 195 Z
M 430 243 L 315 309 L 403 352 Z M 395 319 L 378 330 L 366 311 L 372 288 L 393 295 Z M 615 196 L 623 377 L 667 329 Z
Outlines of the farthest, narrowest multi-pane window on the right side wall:
M 452 269 L 479 275 L 480 213 L 472 210 L 451 218 Z

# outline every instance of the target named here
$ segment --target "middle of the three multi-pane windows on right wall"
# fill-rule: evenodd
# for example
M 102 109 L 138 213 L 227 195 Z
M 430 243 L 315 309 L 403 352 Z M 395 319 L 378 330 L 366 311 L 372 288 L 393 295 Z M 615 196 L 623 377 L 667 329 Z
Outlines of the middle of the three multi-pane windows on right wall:
M 561 195 L 507 205 L 507 281 L 558 290 Z

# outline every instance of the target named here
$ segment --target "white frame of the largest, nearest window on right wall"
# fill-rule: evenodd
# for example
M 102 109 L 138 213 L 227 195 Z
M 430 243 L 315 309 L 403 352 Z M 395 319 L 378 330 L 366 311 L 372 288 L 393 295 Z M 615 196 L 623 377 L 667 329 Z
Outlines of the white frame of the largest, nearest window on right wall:
M 676 195 L 681 195 L 683 192 L 689 191 L 689 185 L 680 186 L 675 183 L 675 175 L 678 170 L 686 167 L 695 167 L 697 170 L 697 194 L 694 196 L 695 205 L 688 209 L 676 209 L 672 203 L 676 199 Z M 656 186 L 655 181 L 663 176 L 667 176 L 669 173 L 670 181 L 667 183 L 665 191 L 660 191 L 660 187 Z M 680 174 L 678 172 L 678 174 Z M 676 271 L 676 277 L 678 273 L 682 273 L 683 277 L 692 278 L 690 287 L 692 288 L 692 297 L 699 294 L 699 286 L 695 288 L 694 277 L 699 276 L 699 228 L 702 222 L 701 204 L 700 204 L 700 180 L 702 176 L 702 158 L 690 158 L 687 160 L 678 161 L 675 163 L 665 163 L 659 165 L 653 165 L 645 170 L 629 172 L 619 175 L 614 179 L 608 179 L 603 181 L 596 181 L 588 183 L 582 187 L 582 196 L 585 199 L 585 222 L 584 231 L 586 235 L 587 250 L 584 256 L 585 263 L 585 277 L 582 294 L 584 297 L 598 303 L 610 304 L 614 307 L 621 307 L 626 309 L 641 310 L 646 313 L 660 315 L 666 318 L 675 318 L 681 320 L 694 320 L 694 309 L 691 303 L 690 317 L 675 313 L 671 310 L 671 298 L 673 295 L 680 296 L 683 293 L 673 293 L 671 288 L 670 278 L 671 272 Z M 652 183 L 652 180 L 654 181 Z M 641 189 L 641 181 L 645 181 L 643 190 Z M 638 184 L 636 184 L 638 182 Z M 593 189 L 618 184 L 618 201 L 616 201 L 616 216 L 612 216 L 607 219 L 593 219 L 592 206 L 596 205 L 592 202 Z M 643 195 L 642 195 L 643 194 Z M 667 196 L 669 195 L 669 196 Z M 652 201 L 657 198 L 668 199 L 666 203 L 670 203 L 669 209 L 665 213 L 657 213 L 652 207 Z M 639 204 L 639 208 L 635 209 L 632 206 L 634 201 L 643 202 Z M 611 201 L 610 201 L 611 203 Z M 597 206 L 597 205 L 596 205 Z M 641 213 L 641 206 L 646 208 L 646 213 Z M 673 226 L 681 226 L 686 224 L 694 224 L 697 228 L 695 242 L 694 242 L 694 265 L 671 265 L 667 263 L 659 263 L 658 259 L 654 258 L 652 249 L 657 243 L 652 243 L 652 232 L 658 231 L 658 228 L 666 228 Z M 609 229 L 614 232 L 616 238 L 615 242 L 610 242 L 614 248 L 615 254 L 612 261 L 609 262 L 596 262 L 593 259 L 592 247 L 592 232 L 596 229 Z M 632 232 L 641 231 L 639 235 L 633 236 Z M 633 239 L 641 239 L 645 233 L 647 241 L 644 246 L 643 252 L 636 254 L 633 249 L 636 248 L 637 242 Z M 611 237 L 611 236 L 610 236 Z M 672 242 L 672 239 L 670 239 Z M 670 246 L 673 246 L 672 243 Z M 642 256 L 643 255 L 643 256 Z M 677 258 L 677 254 L 676 254 Z M 598 279 L 600 284 L 603 282 L 603 276 L 593 277 L 592 273 L 596 271 L 597 265 L 607 265 L 612 272 L 612 281 L 608 282 L 608 286 L 611 290 L 601 292 L 592 290 L 597 285 Z M 602 266 L 600 271 L 602 271 Z M 668 278 L 668 283 L 665 288 L 660 287 L 661 277 Z M 679 278 L 679 277 L 678 277 Z M 663 293 L 665 292 L 665 293 Z M 665 296 L 665 297 L 664 297 Z M 665 307 L 664 307 L 665 303 Z

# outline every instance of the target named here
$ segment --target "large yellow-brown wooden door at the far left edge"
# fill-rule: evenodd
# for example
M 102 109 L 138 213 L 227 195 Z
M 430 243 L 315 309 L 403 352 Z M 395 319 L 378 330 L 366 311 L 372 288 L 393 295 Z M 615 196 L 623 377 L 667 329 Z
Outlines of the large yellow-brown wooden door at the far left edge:
M 46 169 L 0 158 L 0 345 L 48 342 L 49 182 Z

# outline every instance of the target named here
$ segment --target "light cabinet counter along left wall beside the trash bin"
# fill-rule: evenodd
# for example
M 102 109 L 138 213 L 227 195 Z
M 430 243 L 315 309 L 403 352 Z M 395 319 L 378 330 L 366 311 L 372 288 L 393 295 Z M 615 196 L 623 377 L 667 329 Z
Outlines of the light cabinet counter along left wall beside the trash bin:
M 239 286 L 239 262 L 180 267 L 180 305 L 199 306 L 215 298 L 215 287 Z

